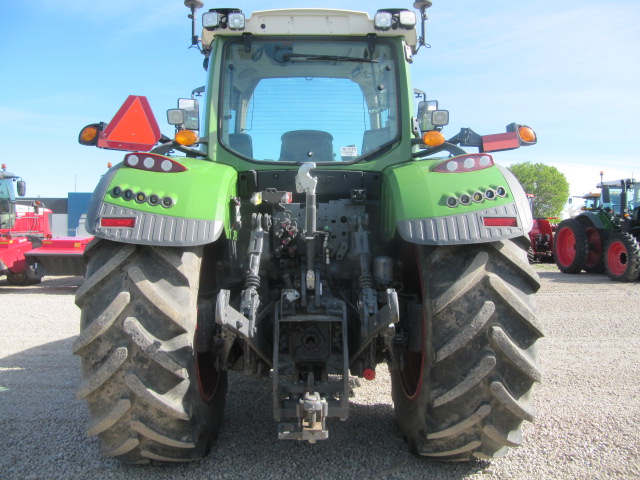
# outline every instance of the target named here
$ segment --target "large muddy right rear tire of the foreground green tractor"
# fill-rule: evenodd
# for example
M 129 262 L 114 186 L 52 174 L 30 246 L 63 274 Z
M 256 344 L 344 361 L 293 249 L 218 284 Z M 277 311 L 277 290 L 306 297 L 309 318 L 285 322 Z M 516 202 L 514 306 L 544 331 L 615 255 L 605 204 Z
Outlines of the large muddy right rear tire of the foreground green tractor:
M 390 369 L 411 451 L 441 460 L 502 456 L 520 445 L 522 421 L 533 420 L 540 283 L 527 263 L 529 242 L 518 241 L 418 247 L 423 321 L 411 331 L 421 334 L 422 351 L 410 351 L 409 339 L 402 370 Z

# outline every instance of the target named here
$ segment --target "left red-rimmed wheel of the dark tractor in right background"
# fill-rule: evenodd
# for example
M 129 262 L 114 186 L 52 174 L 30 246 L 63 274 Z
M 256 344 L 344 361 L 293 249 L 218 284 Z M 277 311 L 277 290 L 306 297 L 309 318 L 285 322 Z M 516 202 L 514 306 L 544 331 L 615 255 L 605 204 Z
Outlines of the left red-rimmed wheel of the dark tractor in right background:
M 576 219 L 563 220 L 553 241 L 553 257 L 562 273 L 580 273 L 587 258 L 587 237 Z

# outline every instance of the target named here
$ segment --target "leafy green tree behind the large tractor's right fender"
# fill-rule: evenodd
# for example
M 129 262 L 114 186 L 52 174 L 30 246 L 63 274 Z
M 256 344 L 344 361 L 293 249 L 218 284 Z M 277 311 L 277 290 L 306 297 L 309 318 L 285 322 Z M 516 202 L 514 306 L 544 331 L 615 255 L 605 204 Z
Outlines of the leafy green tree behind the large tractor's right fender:
M 514 163 L 508 167 L 526 193 L 535 195 L 534 217 L 557 217 L 569 198 L 569 182 L 556 167 L 544 163 Z

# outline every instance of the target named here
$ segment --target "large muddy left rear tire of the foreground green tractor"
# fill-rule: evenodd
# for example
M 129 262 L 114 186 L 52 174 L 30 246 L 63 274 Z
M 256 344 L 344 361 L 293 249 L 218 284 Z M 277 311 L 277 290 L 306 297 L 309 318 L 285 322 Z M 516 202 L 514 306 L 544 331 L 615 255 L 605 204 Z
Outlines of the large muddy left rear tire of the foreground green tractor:
M 222 422 L 227 377 L 194 351 L 202 247 L 94 240 L 85 258 L 73 349 L 88 433 L 124 463 L 203 457 Z

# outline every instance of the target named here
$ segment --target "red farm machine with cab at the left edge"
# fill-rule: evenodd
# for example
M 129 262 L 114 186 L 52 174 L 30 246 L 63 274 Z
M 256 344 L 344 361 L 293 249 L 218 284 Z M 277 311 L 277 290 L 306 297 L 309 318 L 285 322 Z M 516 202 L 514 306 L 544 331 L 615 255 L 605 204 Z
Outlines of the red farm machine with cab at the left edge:
M 51 210 L 39 202 L 16 202 L 26 184 L 18 175 L 0 168 L 0 275 L 12 285 L 34 285 L 47 275 L 84 275 L 82 254 L 91 237 L 51 234 Z

